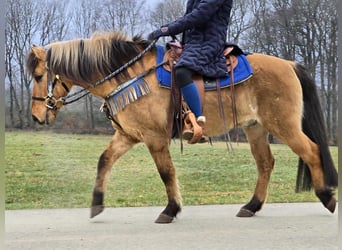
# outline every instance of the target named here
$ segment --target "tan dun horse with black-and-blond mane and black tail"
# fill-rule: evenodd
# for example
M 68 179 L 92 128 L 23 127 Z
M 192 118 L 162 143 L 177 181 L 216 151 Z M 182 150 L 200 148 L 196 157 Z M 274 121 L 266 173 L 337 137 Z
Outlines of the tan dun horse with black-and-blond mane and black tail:
M 171 223 L 181 212 L 182 198 L 169 151 L 175 104 L 170 89 L 162 88 L 156 78 L 155 69 L 160 66 L 156 65 L 156 47 L 156 41 L 152 44 L 141 35 L 130 38 L 113 31 L 32 45 L 27 54 L 27 71 L 33 81 L 32 117 L 40 124 L 53 123 L 73 86 L 108 100 L 113 91 L 143 75 L 148 91 L 110 115 L 115 132 L 98 160 L 91 218 L 105 208 L 104 195 L 114 163 L 137 143 L 147 146 L 166 189 L 168 201 L 155 222 Z M 253 76 L 234 87 L 236 119 L 250 144 L 258 175 L 251 199 L 237 216 L 252 217 L 265 204 L 275 163 L 269 134 L 298 155 L 298 191 L 313 187 L 324 207 L 333 213 L 337 171 L 314 80 L 295 61 L 260 53 L 248 54 L 247 60 Z M 208 136 L 222 135 L 234 127 L 231 91 L 221 89 L 226 122 L 218 112 L 216 91 L 205 92 L 203 112 Z

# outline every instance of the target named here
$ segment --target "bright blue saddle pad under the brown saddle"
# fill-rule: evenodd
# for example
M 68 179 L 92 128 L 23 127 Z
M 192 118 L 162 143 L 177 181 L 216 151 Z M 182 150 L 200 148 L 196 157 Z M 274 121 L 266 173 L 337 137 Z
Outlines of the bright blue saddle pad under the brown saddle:
M 157 45 L 157 64 L 161 63 L 164 58 L 164 47 Z M 253 75 L 253 69 L 250 66 L 246 55 L 240 54 L 236 56 L 238 59 L 238 65 L 234 69 L 234 85 L 246 81 Z M 162 87 L 171 87 L 171 73 L 164 69 L 164 67 L 158 67 L 156 70 L 157 79 Z M 225 88 L 230 85 L 230 75 L 219 78 L 220 87 Z M 216 90 L 215 79 L 204 79 L 205 90 Z

